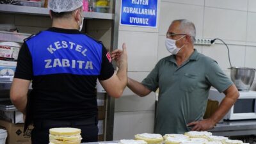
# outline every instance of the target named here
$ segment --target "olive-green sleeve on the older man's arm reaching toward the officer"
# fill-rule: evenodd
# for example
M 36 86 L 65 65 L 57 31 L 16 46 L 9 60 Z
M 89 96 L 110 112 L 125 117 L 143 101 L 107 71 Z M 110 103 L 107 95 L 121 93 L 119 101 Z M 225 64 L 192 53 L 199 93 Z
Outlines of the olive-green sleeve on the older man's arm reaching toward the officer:
M 148 76 L 141 82 L 149 90 L 156 92 L 159 84 L 159 63 L 153 68 L 153 70 L 148 74 Z

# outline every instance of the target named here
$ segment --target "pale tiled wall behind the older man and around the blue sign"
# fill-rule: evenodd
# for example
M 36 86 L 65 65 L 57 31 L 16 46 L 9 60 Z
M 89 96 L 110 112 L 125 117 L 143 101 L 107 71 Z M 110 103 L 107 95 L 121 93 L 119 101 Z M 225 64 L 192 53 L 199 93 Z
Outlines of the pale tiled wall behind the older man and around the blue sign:
M 234 66 L 256 68 L 256 2 L 255 0 L 159 0 L 157 29 L 119 27 L 118 45 L 126 42 L 129 77 L 141 81 L 157 61 L 170 55 L 164 46 L 168 26 L 175 19 L 189 19 L 195 23 L 197 38 L 221 38 L 228 43 Z M 219 43 L 219 44 L 217 44 Z M 202 54 L 218 61 L 230 76 L 225 45 L 195 45 Z M 256 79 L 255 79 L 256 80 Z M 253 84 L 252 90 L 256 90 Z M 154 93 L 138 97 L 125 90 L 116 100 L 114 140 L 134 138 L 140 132 L 153 132 Z M 148 113 L 151 116 L 148 117 Z M 143 122 L 141 122 L 143 120 Z

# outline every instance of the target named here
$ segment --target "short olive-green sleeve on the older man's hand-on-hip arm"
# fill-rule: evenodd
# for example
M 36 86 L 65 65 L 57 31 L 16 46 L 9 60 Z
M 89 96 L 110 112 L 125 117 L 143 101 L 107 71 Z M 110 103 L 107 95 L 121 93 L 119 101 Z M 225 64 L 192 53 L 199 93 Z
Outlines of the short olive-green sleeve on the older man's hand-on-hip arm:
M 219 92 L 224 92 L 233 84 L 216 61 L 211 61 L 209 65 L 207 65 L 206 78 Z

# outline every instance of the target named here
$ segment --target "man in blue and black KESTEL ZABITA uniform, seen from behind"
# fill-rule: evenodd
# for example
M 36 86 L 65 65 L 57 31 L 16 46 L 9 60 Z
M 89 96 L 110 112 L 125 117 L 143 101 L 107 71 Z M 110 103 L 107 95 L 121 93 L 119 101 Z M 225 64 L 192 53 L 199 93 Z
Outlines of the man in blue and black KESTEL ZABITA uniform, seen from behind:
M 80 32 L 82 5 L 83 0 L 49 1 L 52 28 L 30 36 L 20 49 L 10 97 L 26 125 L 33 122 L 32 143 L 49 143 L 52 127 L 77 127 L 82 142 L 97 141 L 97 79 L 115 98 L 127 84 L 125 45 L 115 74 L 104 45 Z

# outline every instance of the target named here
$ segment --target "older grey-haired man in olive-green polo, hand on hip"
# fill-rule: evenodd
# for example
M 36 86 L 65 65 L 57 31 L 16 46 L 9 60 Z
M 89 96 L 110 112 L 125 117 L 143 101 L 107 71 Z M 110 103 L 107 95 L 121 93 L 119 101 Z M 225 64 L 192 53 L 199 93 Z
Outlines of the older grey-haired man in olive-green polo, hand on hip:
M 172 55 L 160 60 L 141 83 L 128 79 L 127 86 L 141 97 L 159 88 L 156 133 L 212 129 L 239 97 L 236 86 L 218 63 L 194 49 L 195 36 L 192 22 L 174 20 L 166 35 L 166 49 Z M 113 58 L 118 51 L 113 52 Z M 203 119 L 211 86 L 226 97 L 210 118 Z

